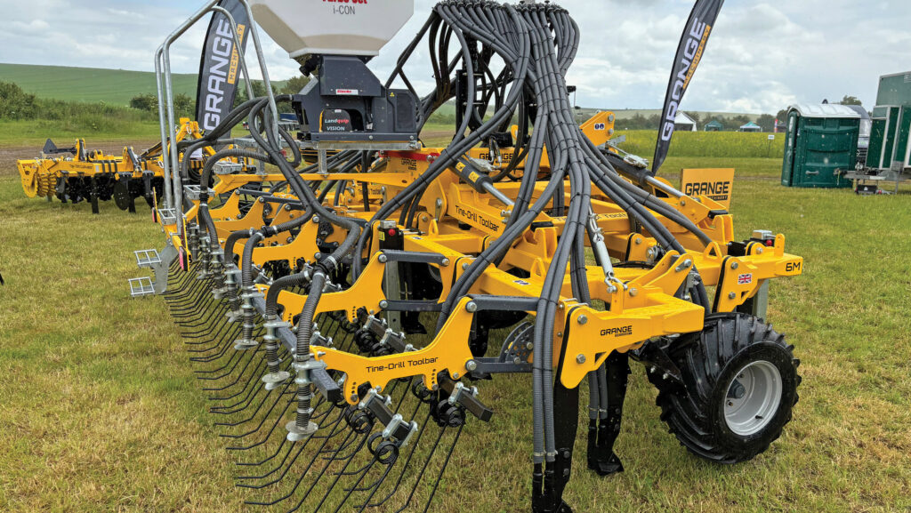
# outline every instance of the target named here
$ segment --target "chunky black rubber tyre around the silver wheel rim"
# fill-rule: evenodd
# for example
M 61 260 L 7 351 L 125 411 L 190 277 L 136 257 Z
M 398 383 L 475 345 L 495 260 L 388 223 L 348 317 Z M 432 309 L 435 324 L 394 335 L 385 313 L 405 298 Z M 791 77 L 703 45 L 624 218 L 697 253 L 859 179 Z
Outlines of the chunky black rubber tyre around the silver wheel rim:
M 801 382 L 800 361 L 793 357 L 793 345 L 770 324 L 745 313 L 710 314 L 700 333 L 682 335 L 668 354 L 681 370 L 683 386 L 663 379 L 662 373 L 650 373 L 649 379 L 659 390 L 661 420 L 694 455 L 722 464 L 747 461 L 765 451 L 790 422 Z M 724 419 L 728 387 L 735 373 L 761 360 L 781 374 L 781 400 L 768 424 L 741 436 Z

